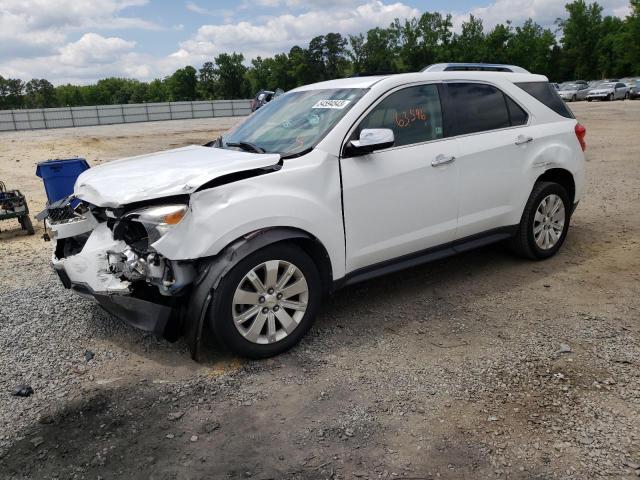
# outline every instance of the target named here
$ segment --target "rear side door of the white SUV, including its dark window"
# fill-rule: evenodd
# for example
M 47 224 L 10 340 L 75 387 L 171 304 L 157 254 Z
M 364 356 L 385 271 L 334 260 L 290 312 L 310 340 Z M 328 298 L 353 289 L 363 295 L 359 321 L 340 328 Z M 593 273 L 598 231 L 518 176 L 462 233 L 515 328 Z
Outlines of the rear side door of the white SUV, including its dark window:
M 524 174 L 534 139 L 528 113 L 494 85 L 446 84 L 455 111 L 460 202 L 456 239 L 510 225 L 530 189 Z M 528 193 L 526 193 L 528 195 Z M 517 222 L 516 222 L 517 223 Z

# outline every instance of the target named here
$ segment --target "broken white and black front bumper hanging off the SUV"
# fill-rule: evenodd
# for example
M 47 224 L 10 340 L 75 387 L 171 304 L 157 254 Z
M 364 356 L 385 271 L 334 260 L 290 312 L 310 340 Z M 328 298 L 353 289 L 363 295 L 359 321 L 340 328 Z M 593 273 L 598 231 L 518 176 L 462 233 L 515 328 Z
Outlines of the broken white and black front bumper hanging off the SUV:
M 127 245 L 114 240 L 105 223 L 95 226 L 80 252 L 60 258 L 59 248 L 52 266 L 62 284 L 85 298 L 95 299 L 112 315 L 158 335 L 165 334 L 172 318 L 177 317 L 177 308 L 150 298 L 154 287 L 123 280 L 121 274 L 112 272 L 109 255 L 123 253 Z

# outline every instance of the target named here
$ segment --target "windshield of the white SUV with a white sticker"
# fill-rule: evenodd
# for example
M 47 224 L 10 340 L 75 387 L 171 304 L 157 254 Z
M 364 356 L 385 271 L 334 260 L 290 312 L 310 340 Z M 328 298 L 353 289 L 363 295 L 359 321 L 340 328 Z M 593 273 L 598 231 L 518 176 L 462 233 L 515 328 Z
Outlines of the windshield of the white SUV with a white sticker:
M 285 93 L 222 137 L 222 147 L 250 143 L 268 153 L 292 156 L 318 144 L 367 92 L 360 88 Z

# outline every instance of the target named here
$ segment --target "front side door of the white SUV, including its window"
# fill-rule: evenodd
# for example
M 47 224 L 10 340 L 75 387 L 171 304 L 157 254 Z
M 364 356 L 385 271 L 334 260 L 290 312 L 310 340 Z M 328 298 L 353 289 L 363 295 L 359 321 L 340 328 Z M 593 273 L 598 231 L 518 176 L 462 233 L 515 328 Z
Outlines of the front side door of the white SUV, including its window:
M 340 160 L 347 272 L 453 240 L 456 142 L 445 136 L 437 84 L 398 88 L 372 106 L 364 128 L 393 130 L 391 148 Z

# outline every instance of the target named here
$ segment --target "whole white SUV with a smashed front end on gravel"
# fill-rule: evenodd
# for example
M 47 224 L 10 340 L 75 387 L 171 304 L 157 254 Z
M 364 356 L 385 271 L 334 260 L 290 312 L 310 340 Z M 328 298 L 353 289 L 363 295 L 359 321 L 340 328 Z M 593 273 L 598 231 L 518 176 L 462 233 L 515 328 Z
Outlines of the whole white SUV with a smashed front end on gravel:
M 50 208 L 53 266 L 133 325 L 185 335 L 194 358 L 207 334 L 268 357 L 341 286 L 501 240 L 554 255 L 584 135 L 529 73 L 307 85 L 210 144 L 84 172 Z

